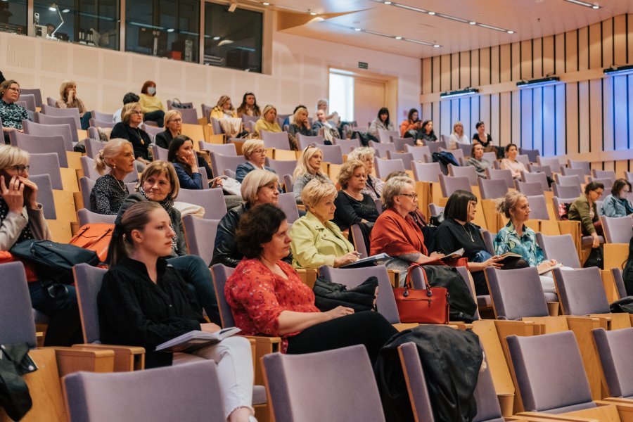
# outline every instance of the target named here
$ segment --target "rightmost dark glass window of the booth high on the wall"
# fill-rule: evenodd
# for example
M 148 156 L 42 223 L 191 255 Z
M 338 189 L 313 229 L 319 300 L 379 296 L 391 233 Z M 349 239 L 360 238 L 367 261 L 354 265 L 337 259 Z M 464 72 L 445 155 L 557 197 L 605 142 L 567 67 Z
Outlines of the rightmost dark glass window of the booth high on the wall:
M 260 12 L 222 4 L 205 4 L 205 65 L 262 72 Z

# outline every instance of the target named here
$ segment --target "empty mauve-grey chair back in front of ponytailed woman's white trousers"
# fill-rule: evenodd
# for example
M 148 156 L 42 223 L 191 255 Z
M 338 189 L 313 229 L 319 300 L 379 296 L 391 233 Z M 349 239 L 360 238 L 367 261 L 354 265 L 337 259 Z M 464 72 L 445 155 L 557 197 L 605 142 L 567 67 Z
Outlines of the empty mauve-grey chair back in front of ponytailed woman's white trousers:
M 66 376 L 64 384 L 72 421 L 226 421 L 213 361 L 134 372 L 77 372 Z

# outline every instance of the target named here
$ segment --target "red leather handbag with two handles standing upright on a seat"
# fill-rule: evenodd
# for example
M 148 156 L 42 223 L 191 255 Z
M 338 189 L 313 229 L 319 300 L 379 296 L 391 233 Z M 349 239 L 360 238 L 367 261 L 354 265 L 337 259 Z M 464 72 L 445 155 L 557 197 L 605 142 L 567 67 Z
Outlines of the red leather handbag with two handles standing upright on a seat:
M 445 287 L 431 287 L 424 275 L 426 289 L 411 288 L 411 269 L 421 267 L 412 265 L 404 280 L 404 287 L 395 287 L 393 295 L 398 307 L 400 322 L 420 324 L 448 324 L 449 323 L 449 294 Z

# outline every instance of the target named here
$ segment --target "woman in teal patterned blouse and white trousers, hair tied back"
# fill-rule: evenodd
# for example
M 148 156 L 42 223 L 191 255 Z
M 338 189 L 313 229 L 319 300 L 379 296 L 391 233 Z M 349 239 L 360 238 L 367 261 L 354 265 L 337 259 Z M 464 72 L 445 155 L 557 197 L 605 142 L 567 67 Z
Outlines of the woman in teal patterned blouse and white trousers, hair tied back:
M 528 197 L 518 191 L 506 193 L 506 196 L 497 204 L 497 212 L 502 213 L 510 221 L 499 230 L 494 238 L 494 252 L 503 255 L 513 252 L 521 255 L 530 267 L 537 267 L 539 272 L 558 264 L 556 260 L 546 260 L 543 250 L 538 245 L 536 234 L 525 222 L 530 219 L 530 204 Z M 564 264 L 564 262 L 563 262 Z M 565 269 L 567 269 L 565 267 Z M 549 275 L 541 276 L 541 284 L 545 293 L 556 293 L 554 279 Z

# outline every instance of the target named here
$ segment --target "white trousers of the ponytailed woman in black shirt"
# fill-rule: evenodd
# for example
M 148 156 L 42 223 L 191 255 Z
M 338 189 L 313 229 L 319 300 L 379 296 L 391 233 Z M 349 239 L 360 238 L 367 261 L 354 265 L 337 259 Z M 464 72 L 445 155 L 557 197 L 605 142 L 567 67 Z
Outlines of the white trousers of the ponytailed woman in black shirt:
M 217 364 L 217 375 L 224 418 L 229 418 L 238 407 L 252 409 L 252 352 L 250 342 L 236 335 L 225 338 L 220 343 L 202 347 L 191 353 L 174 353 L 173 363 L 186 364 L 203 359 L 213 359 Z

